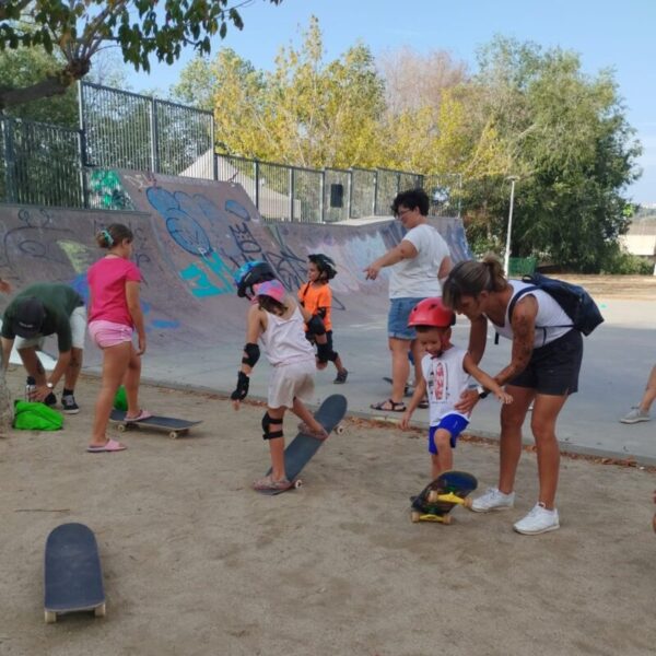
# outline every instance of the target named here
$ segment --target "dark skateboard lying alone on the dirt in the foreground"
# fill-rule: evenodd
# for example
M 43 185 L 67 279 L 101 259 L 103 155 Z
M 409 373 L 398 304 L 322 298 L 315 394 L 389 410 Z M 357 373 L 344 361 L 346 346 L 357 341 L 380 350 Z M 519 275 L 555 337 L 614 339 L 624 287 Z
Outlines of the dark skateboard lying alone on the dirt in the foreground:
M 46 540 L 44 562 L 46 623 L 57 616 L 82 610 L 105 617 L 105 590 L 93 531 L 84 524 L 62 524 Z

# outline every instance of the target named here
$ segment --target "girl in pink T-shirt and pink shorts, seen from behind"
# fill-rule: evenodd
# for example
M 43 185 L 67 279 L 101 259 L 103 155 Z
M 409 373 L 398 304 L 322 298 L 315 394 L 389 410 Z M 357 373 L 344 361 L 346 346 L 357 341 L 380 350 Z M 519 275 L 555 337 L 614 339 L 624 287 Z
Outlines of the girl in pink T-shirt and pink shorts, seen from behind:
M 141 355 L 145 352 L 143 314 L 139 303 L 141 273 L 129 260 L 132 255 L 132 231 L 114 223 L 96 235 L 107 255 L 90 267 L 89 332 L 103 350 L 103 382 L 96 400 L 93 435 L 87 452 L 124 450 L 126 446 L 105 434 L 114 398 L 122 383 L 126 387 L 128 412 L 126 419 L 140 421 L 152 417 L 139 408 Z M 137 330 L 138 348 L 132 344 Z

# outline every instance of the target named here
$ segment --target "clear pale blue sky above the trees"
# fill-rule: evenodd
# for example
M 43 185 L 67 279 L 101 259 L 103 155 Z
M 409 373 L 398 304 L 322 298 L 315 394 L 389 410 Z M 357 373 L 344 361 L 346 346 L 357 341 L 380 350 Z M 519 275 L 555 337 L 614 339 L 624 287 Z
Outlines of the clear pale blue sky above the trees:
M 239 9 L 244 30 L 229 27 L 226 46 L 258 69 L 272 69 L 282 46 L 300 46 L 301 33 L 317 16 L 326 60 L 356 43 L 374 56 L 405 46 L 427 54 L 446 50 L 476 71 L 479 47 L 495 35 L 530 40 L 543 48 L 574 50 L 583 70 L 612 69 L 629 124 L 643 145 L 642 177 L 628 190 L 634 202 L 656 204 L 656 0 L 283 0 L 278 7 L 251 0 Z M 166 93 L 191 49 L 174 66 L 154 63 L 150 74 L 129 73 L 134 91 Z

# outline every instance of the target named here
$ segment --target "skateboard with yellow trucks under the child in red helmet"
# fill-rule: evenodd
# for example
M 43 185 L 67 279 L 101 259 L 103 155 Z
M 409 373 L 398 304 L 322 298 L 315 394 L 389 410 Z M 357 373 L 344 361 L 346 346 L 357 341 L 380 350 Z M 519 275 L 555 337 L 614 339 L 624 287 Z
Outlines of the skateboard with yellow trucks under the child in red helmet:
M 466 471 L 445 471 L 417 496 L 411 496 L 412 522 L 450 524 L 449 513 L 457 505 L 471 506 L 469 493 L 478 488 L 476 477 Z

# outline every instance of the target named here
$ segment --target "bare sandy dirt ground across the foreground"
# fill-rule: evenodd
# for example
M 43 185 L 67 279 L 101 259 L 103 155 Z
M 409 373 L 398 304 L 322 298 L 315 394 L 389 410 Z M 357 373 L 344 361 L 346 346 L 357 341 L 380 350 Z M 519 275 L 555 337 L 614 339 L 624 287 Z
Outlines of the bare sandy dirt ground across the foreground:
M 15 395 L 23 380 L 9 373 Z M 512 530 L 536 499 L 525 453 L 515 509 L 413 525 L 418 432 L 350 421 L 302 490 L 266 497 L 249 489 L 268 467 L 261 407 L 143 387 L 144 407 L 203 423 L 87 454 L 96 390 L 84 377 L 63 431 L 0 440 L 2 656 L 654 654 L 652 471 L 563 459 L 562 528 L 525 537 Z M 497 449 L 464 441 L 456 465 L 485 488 Z M 67 522 L 97 536 L 107 617 L 46 625 L 44 544 Z

